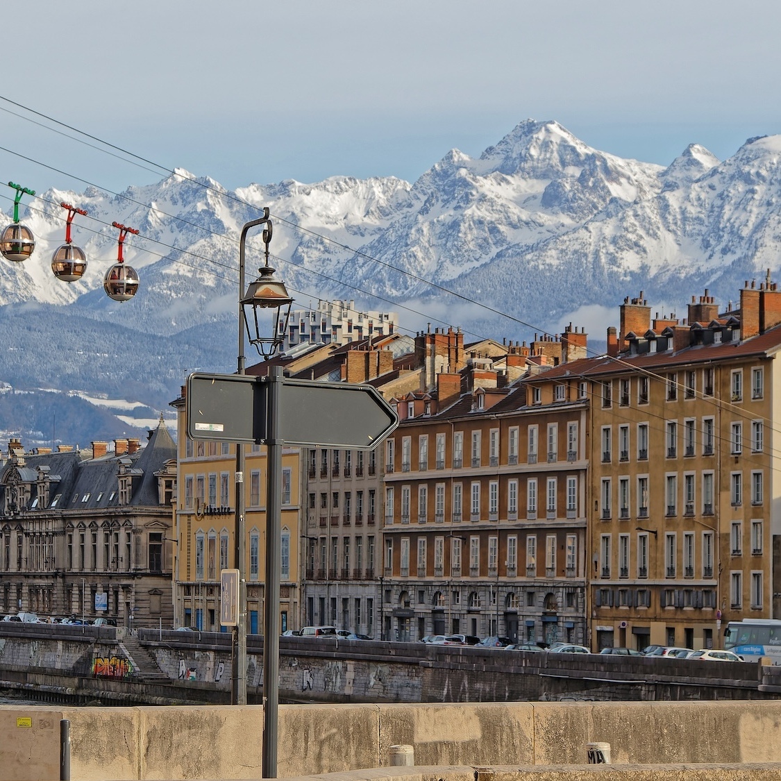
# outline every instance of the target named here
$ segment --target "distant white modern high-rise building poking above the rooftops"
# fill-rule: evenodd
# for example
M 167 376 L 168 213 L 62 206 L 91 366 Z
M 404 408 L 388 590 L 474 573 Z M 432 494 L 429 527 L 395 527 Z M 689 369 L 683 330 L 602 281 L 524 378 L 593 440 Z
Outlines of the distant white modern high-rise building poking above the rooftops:
M 287 322 L 284 350 L 298 344 L 349 344 L 398 330 L 397 312 L 361 312 L 355 301 L 322 301 L 295 309 Z

